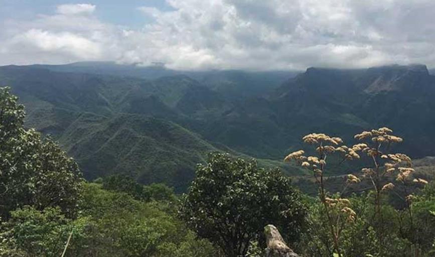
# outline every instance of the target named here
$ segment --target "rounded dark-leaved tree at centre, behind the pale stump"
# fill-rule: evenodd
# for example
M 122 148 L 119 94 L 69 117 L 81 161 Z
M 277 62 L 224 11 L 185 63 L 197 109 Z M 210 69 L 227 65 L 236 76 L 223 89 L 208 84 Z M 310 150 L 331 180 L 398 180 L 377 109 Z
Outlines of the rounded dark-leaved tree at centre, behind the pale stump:
M 198 165 L 179 213 L 199 236 L 236 257 L 246 254 L 251 240 L 264 242 L 267 224 L 279 227 L 287 241 L 296 241 L 306 209 L 300 193 L 278 169 L 211 153 L 207 164 Z

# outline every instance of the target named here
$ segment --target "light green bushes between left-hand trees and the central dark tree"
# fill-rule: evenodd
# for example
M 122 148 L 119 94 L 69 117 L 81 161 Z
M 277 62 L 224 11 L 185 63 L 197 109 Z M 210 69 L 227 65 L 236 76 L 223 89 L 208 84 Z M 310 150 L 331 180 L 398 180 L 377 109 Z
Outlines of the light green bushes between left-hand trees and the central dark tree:
M 92 256 L 216 256 L 209 241 L 197 240 L 158 202 L 143 202 L 126 193 L 103 190 L 98 184 L 86 184 L 80 206 L 102 235 L 93 247 L 110 253 L 98 251 L 99 255 Z

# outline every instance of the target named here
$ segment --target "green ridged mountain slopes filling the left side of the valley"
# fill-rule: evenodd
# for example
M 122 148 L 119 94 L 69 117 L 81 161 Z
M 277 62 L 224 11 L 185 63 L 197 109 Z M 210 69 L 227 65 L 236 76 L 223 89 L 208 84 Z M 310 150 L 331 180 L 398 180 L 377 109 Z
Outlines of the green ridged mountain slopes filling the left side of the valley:
M 12 86 L 26 105 L 26 125 L 58 140 L 88 179 L 128 173 L 182 190 L 208 152 L 243 155 L 194 132 L 233 103 L 186 75 L 147 80 L 4 66 L 0 84 Z

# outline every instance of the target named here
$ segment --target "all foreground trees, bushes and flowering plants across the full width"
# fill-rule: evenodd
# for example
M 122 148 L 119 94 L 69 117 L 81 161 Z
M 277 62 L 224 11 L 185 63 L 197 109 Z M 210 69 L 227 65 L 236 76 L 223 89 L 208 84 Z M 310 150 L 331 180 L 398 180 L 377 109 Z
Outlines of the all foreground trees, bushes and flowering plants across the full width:
M 316 257 L 429 257 L 435 254 L 432 160 L 396 153 L 403 140 L 382 127 L 341 138 L 309 134 L 289 154 L 311 172 L 317 197 L 279 169 L 211 153 L 181 197 L 129 173 L 82 179 L 50 138 L 24 127 L 24 107 L 0 88 L 0 256 L 263 256 L 263 227 L 277 226 L 295 252 Z M 343 190 L 329 167 L 352 161 Z M 432 172 L 433 173 L 433 172 Z M 336 177 L 337 179 L 338 177 Z M 362 189 L 361 189 L 362 187 Z

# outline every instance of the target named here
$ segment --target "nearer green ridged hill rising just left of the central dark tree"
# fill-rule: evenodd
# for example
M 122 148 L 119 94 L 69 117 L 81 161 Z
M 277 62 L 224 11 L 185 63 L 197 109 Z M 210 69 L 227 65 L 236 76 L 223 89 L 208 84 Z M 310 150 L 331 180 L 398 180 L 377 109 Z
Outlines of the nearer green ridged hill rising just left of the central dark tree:
M 205 153 L 217 151 L 184 127 L 154 117 L 81 114 L 58 139 L 88 179 L 124 173 L 144 184 L 184 188 Z

